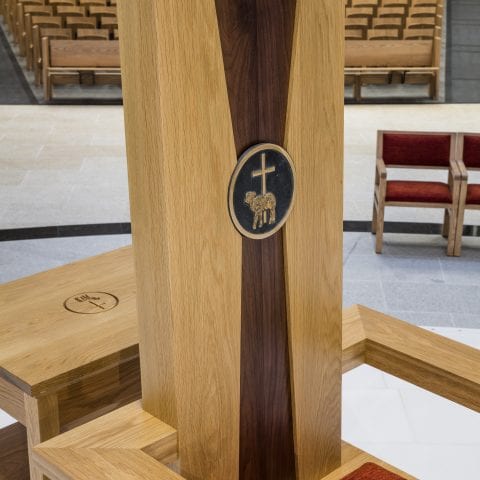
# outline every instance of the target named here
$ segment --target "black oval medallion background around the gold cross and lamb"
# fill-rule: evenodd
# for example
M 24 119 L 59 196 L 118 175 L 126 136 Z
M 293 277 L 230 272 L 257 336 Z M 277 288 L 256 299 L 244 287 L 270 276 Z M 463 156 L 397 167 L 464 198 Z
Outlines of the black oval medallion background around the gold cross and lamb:
M 239 228 L 235 218 L 240 225 L 240 233 L 251 238 L 266 238 L 281 228 L 290 213 L 295 191 L 295 174 L 286 152 L 282 153 L 282 149 L 276 145 L 259 147 L 261 146 L 254 146 L 242 155 L 239 166 L 243 157 L 248 156 L 252 150 L 256 150 L 243 166 L 239 169 L 237 167 L 230 185 L 230 215 L 237 229 Z M 245 194 L 247 192 L 262 194 L 262 176 L 252 177 L 254 171 L 262 170 L 262 154 L 266 154 L 266 170 L 275 167 L 275 172 L 266 175 L 266 191 L 275 195 L 276 221 L 273 224 L 267 221 L 262 227 L 257 225 L 257 228 L 253 229 L 255 214 L 245 202 Z

